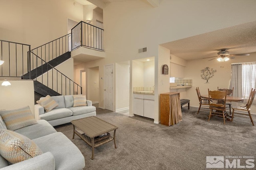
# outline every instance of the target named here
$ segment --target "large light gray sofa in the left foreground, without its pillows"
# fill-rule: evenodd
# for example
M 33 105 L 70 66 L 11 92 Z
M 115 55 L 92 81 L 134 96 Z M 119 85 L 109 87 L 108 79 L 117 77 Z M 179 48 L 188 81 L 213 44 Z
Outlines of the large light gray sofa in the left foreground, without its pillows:
M 46 120 L 37 122 L 14 132 L 32 139 L 43 154 L 11 165 L 0 155 L 0 170 L 81 170 L 84 168 L 84 156 L 72 141 L 63 133 L 57 132 Z M 1 116 L 0 128 L 6 129 Z

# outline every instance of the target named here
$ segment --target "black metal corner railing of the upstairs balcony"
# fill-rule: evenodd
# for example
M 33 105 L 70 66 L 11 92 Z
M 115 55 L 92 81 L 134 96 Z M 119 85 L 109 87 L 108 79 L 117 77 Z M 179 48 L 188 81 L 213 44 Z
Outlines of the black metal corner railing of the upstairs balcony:
M 103 29 L 95 27 L 84 21 L 80 21 L 71 29 L 71 49 L 89 47 L 103 51 Z

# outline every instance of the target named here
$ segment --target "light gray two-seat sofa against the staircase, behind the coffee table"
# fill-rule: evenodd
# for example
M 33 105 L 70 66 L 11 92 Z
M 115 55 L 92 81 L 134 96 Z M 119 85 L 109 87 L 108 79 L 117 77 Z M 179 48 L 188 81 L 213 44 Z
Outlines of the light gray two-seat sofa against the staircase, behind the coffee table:
M 90 100 L 86 100 L 87 106 L 73 107 L 74 98 L 72 95 L 51 96 L 51 98 L 58 103 L 58 106 L 49 112 L 45 112 L 44 107 L 36 104 L 34 107 L 36 120 L 44 119 L 52 126 L 57 126 L 70 123 L 72 120 L 96 116 L 96 107 L 92 106 Z

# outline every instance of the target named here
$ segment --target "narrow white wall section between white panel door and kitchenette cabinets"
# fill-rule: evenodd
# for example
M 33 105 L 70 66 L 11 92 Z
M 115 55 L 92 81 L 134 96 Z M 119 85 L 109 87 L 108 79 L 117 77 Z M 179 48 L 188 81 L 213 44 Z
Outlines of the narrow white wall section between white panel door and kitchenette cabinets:
M 129 107 L 130 94 L 130 64 L 129 61 L 125 63 L 116 63 L 116 111 Z

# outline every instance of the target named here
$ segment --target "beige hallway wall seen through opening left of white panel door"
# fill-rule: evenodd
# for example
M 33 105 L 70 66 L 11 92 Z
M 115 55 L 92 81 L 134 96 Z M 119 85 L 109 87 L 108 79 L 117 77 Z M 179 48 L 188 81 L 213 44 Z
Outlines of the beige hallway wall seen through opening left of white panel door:
M 92 102 L 99 101 L 99 69 L 87 68 L 86 69 L 86 84 L 87 84 L 87 96 L 86 99 Z

